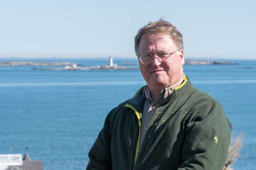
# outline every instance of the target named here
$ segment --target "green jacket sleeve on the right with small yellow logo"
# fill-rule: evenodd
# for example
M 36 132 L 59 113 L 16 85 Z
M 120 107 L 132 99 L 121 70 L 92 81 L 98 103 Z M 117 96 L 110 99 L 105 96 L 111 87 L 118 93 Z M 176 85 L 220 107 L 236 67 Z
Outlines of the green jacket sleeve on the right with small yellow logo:
M 231 139 L 231 124 L 221 104 L 204 102 L 187 115 L 178 170 L 222 170 Z

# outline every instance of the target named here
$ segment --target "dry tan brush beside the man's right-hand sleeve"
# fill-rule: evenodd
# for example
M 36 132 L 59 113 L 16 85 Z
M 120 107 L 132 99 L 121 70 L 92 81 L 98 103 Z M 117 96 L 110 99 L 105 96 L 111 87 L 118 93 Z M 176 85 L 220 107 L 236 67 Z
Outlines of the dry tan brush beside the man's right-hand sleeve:
M 231 164 L 234 163 L 234 161 L 240 157 L 239 151 L 243 146 L 242 140 L 243 140 L 243 134 L 236 136 L 236 140 L 234 142 L 232 142 L 232 138 L 231 138 L 232 145 L 230 145 L 228 149 L 228 157 L 226 159 L 226 162 L 222 170 L 232 170 Z

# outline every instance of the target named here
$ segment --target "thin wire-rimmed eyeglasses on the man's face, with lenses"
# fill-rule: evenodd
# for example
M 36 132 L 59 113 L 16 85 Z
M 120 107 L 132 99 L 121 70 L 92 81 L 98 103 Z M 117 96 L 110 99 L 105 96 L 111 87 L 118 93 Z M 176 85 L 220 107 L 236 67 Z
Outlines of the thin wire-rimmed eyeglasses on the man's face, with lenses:
M 177 49 L 176 51 L 178 51 Z M 173 55 L 176 51 L 174 52 L 169 52 L 169 51 L 164 51 L 156 54 L 156 58 L 158 59 L 159 62 L 161 63 L 166 63 L 169 62 L 171 59 L 171 55 Z M 152 54 L 144 54 L 144 55 L 139 55 L 138 58 L 141 60 L 142 64 L 151 64 L 153 62 L 153 58 L 155 55 Z

